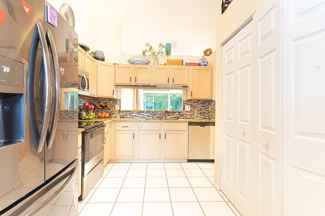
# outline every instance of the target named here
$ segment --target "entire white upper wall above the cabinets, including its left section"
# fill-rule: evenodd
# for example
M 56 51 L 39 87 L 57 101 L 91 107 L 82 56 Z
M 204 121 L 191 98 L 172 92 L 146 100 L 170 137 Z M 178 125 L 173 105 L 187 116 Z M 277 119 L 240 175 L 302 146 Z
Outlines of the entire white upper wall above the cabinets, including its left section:
M 74 11 L 79 43 L 95 50 L 101 40 L 106 60 L 127 63 L 142 55 L 145 43 L 177 42 L 169 58 L 199 61 L 205 49 L 216 50 L 216 15 L 220 4 L 214 0 L 49 0 L 59 11 L 68 3 Z M 166 56 L 159 63 L 166 62 Z M 152 62 L 152 58 L 149 60 Z M 208 59 L 210 62 L 215 58 Z

